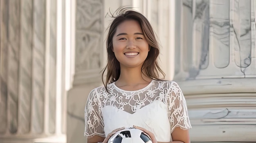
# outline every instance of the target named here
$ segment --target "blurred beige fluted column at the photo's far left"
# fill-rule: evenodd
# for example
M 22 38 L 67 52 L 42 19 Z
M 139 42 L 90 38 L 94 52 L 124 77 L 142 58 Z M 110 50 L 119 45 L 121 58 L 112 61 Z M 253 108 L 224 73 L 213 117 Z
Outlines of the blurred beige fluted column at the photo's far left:
M 66 140 L 61 126 L 65 89 L 58 85 L 65 77 L 57 78 L 64 75 L 57 68 L 65 60 L 56 53 L 57 9 L 56 0 L 0 1 L 1 143 Z

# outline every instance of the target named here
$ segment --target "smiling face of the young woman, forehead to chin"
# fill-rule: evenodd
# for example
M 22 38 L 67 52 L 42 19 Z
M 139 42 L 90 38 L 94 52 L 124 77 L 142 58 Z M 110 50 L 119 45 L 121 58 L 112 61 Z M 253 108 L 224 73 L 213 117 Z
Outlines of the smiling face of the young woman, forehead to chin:
M 113 52 L 122 67 L 140 67 L 148 56 L 148 42 L 139 23 L 126 20 L 117 26 L 113 36 Z

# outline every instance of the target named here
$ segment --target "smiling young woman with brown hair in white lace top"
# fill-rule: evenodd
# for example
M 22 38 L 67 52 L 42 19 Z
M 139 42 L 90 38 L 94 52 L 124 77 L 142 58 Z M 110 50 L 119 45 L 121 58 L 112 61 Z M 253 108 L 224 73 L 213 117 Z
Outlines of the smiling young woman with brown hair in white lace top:
M 85 106 L 88 143 L 107 143 L 117 130 L 133 126 L 148 133 L 153 143 L 190 142 L 186 101 L 177 83 L 160 79 L 164 73 L 157 64 L 154 34 L 136 11 L 121 9 L 113 20 L 106 82 L 90 92 Z

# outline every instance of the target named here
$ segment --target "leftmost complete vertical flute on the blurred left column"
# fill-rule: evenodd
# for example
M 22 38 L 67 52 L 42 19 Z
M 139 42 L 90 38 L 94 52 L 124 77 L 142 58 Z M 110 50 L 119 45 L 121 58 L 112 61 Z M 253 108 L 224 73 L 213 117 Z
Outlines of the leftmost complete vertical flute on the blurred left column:
M 32 88 L 32 0 L 20 1 L 19 132 L 29 133 Z

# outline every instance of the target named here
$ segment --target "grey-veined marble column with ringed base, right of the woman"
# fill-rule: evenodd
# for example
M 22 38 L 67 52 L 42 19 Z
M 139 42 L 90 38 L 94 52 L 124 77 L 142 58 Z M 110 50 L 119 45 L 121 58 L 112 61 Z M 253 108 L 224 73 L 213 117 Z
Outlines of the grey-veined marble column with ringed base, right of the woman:
M 191 141 L 256 141 L 256 0 L 175 2 L 174 80 Z

